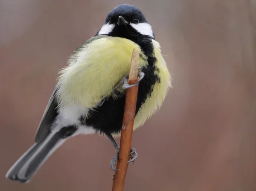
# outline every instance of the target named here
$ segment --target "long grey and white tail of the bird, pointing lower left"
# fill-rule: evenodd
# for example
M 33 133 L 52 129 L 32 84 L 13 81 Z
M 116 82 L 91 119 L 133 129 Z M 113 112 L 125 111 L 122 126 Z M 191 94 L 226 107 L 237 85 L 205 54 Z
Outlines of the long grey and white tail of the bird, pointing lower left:
M 26 183 L 31 180 L 47 158 L 64 142 L 63 132 L 51 132 L 41 142 L 32 145 L 6 173 L 6 178 Z

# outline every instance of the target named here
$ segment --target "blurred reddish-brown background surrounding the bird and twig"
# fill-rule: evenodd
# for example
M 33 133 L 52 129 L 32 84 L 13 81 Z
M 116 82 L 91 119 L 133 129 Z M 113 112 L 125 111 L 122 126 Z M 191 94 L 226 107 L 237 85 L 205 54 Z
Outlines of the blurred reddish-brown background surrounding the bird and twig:
M 96 135 L 67 141 L 29 184 L 5 174 L 67 57 L 121 3 L 144 12 L 174 80 L 134 132 L 125 191 L 256 190 L 256 0 L 0 0 L 0 190 L 111 190 L 114 150 Z

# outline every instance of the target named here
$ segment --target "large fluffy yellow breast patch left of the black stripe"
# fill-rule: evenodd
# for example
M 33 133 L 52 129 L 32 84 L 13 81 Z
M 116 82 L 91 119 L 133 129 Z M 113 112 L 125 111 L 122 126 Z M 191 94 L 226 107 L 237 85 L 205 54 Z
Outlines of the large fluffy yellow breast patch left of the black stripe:
M 102 37 L 90 40 L 69 60 L 58 78 L 57 100 L 62 105 L 79 104 L 95 107 L 129 72 L 134 48 L 140 52 L 139 66 L 147 64 L 140 47 L 131 40 Z

